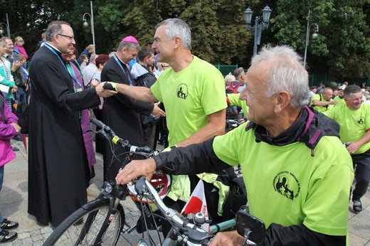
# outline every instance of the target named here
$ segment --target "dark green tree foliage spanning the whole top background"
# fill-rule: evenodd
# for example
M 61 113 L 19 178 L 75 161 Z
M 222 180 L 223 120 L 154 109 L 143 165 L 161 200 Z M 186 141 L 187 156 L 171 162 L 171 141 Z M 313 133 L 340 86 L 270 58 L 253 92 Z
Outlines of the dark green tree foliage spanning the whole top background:
M 0 4 L 0 22 L 6 23 L 7 13 L 11 38 L 22 36 L 29 55 L 37 50 L 41 33 L 54 20 L 71 24 L 79 52 L 93 43 L 90 16 L 85 16 L 89 27 L 83 27 L 83 14 L 90 14 L 88 0 L 0 0 Z M 287 44 L 303 56 L 310 10 L 310 23 L 319 26 L 318 38 L 310 38 L 307 49 L 310 73 L 370 77 L 370 0 L 93 1 L 96 52 L 116 50 L 122 38 L 129 35 L 141 45 L 151 46 L 157 23 L 166 18 L 182 18 L 191 28 L 194 55 L 213 64 L 238 63 L 248 68 L 253 35 L 245 29 L 243 11 L 249 6 L 254 20 L 262 15 L 266 4 L 273 12 L 258 49 L 266 43 Z M 310 35 L 313 32 L 314 26 Z

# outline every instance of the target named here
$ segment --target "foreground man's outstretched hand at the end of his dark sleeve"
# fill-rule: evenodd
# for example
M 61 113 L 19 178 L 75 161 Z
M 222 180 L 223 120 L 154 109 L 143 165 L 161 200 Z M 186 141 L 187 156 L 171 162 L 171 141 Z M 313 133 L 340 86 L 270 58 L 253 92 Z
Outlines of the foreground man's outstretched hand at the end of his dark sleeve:
M 148 180 L 150 180 L 156 169 L 157 164 L 154 159 L 131 161 L 117 174 L 115 179 L 117 184 L 130 183 L 139 176 L 147 176 Z

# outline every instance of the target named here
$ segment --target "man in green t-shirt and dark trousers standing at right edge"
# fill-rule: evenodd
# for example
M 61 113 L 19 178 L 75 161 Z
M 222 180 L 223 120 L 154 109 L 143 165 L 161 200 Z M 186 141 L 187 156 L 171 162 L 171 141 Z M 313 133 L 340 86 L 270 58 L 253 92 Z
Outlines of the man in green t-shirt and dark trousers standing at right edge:
M 355 213 L 362 210 L 360 198 L 365 195 L 370 182 L 370 105 L 362 102 L 358 85 L 344 89 L 345 104 L 324 112 L 340 125 L 340 137 L 347 143 L 356 167 L 356 186 L 352 194 Z

